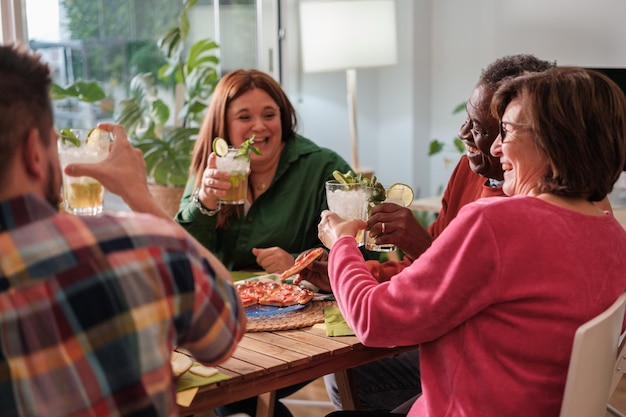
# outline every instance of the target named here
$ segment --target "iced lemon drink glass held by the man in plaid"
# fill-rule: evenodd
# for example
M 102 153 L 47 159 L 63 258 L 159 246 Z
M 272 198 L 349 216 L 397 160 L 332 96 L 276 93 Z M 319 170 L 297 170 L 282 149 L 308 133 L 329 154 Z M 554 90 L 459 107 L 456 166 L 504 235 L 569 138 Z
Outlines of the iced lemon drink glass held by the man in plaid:
M 109 154 L 111 140 L 108 132 L 100 129 L 69 129 L 69 132 L 78 142 L 59 138 L 59 159 L 63 169 L 70 163 L 100 162 Z M 104 188 L 91 177 L 70 177 L 63 174 L 63 201 L 65 210 L 69 213 L 94 216 L 102 213 Z

